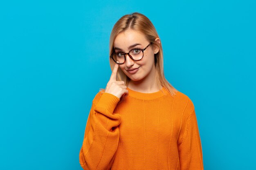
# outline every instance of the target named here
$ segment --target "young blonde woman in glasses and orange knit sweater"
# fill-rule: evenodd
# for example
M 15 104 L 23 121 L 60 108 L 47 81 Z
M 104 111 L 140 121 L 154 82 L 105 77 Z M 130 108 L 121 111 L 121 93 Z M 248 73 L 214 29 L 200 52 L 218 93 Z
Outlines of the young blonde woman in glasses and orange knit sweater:
M 164 77 L 162 44 L 143 14 L 110 35 L 112 75 L 92 101 L 79 162 L 85 170 L 203 170 L 195 108 Z

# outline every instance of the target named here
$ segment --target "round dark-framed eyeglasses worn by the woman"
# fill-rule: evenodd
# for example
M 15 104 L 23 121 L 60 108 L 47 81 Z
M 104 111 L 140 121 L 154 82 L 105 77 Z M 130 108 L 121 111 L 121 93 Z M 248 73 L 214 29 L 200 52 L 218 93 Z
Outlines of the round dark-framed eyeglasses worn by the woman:
M 151 42 L 148 44 L 148 46 L 150 46 Z M 145 49 L 132 49 L 129 51 L 129 53 L 121 53 L 121 52 L 117 52 L 115 53 L 115 51 L 110 55 L 110 58 L 112 58 L 114 60 L 115 63 L 117 64 L 124 64 L 125 60 L 126 60 L 126 54 L 129 55 L 129 57 L 132 60 L 135 61 L 139 61 L 143 58 L 144 56 L 144 51 L 148 48 L 148 46 L 146 46 Z M 119 63 L 118 63 L 118 62 Z

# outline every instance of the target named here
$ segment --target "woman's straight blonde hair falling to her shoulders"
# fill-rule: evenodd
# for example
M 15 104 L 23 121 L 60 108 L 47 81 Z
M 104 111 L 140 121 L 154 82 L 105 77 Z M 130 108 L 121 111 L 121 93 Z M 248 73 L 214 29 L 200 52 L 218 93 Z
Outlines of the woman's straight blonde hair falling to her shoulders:
M 113 26 L 112 32 L 110 34 L 110 43 L 109 43 L 109 51 L 110 55 L 114 51 L 114 41 L 115 38 L 119 33 L 122 33 L 128 29 L 132 29 L 135 31 L 140 31 L 143 33 L 146 37 L 146 39 L 151 42 L 152 44 L 155 44 L 159 48 L 159 52 L 155 54 L 155 68 L 156 68 L 156 77 L 155 81 L 157 83 L 157 86 L 161 89 L 161 86 L 164 86 L 167 91 L 174 96 L 175 93 L 177 93 L 177 90 L 166 80 L 164 77 L 164 62 L 163 62 L 163 49 L 162 49 L 162 43 L 157 43 L 155 41 L 155 38 L 159 38 L 157 31 L 155 29 L 155 26 L 152 24 L 152 22 L 143 14 L 135 12 L 131 14 L 127 14 L 122 16 Z M 110 59 L 110 67 L 111 70 L 113 70 L 115 66 L 115 62 Z M 127 86 L 130 78 L 124 74 L 124 72 L 120 69 L 120 67 L 117 70 L 117 81 L 124 81 L 125 85 Z M 100 89 L 105 90 L 103 88 Z M 121 97 L 120 101 L 123 101 L 123 97 Z

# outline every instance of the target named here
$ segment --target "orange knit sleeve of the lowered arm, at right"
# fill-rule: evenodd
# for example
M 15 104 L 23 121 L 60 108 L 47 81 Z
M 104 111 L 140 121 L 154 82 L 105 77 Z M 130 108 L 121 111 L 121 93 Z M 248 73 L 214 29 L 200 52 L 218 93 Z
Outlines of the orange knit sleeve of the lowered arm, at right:
M 182 141 L 177 145 L 180 170 L 203 170 L 202 146 L 195 108 L 191 111 L 185 126 Z

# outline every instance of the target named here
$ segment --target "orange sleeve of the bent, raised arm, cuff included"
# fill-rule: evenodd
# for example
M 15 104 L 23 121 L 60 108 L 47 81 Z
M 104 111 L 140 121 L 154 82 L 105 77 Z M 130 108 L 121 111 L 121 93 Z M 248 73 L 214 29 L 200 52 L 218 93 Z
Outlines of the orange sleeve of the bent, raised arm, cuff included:
M 117 150 L 121 117 L 113 111 L 119 98 L 99 92 L 92 101 L 79 163 L 84 170 L 108 170 Z

